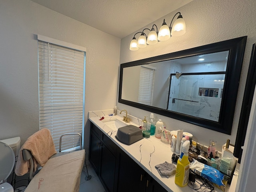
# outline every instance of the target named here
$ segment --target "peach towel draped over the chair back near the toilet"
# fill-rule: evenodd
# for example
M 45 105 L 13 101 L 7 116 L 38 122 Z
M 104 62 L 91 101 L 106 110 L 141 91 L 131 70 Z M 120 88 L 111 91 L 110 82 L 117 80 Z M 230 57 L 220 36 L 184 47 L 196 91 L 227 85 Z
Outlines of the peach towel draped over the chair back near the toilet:
M 20 148 L 15 173 L 18 176 L 22 176 L 30 171 L 30 162 L 25 161 L 22 156 L 22 150 L 29 150 L 34 157 L 34 170 L 38 164 L 40 166 L 44 166 L 44 164 L 48 161 L 48 159 L 56 154 L 54 142 L 52 140 L 52 135 L 50 130 L 47 128 L 43 128 L 37 132 L 35 132 L 32 136 L 30 136 L 26 142 Z

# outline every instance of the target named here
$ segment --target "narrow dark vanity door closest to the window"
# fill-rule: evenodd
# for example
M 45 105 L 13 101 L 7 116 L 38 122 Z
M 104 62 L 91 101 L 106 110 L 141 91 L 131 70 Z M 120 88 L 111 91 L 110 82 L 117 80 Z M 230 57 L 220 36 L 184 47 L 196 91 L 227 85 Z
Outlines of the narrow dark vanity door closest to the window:
M 100 173 L 100 139 L 91 131 L 89 161 L 97 175 Z

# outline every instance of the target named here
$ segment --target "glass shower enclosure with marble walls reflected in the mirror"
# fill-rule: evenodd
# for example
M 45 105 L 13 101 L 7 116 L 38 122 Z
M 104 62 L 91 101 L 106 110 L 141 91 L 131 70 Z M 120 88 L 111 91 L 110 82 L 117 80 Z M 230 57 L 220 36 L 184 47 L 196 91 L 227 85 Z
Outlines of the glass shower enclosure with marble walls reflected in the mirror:
M 221 74 L 222 73 L 222 74 Z M 171 74 L 167 110 L 218 122 L 225 72 Z

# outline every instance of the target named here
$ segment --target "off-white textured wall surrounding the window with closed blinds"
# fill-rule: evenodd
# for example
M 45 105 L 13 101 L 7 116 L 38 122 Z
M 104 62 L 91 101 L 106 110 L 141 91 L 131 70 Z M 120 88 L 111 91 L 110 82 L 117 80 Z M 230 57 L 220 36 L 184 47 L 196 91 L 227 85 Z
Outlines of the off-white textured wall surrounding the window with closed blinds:
M 86 47 L 85 122 L 114 108 L 120 39 L 30 0 L 0 1 L 0 139 L 24 141 L 39 130 L 36 34 Z M 88 151 L 89 123 L 85 128 Z

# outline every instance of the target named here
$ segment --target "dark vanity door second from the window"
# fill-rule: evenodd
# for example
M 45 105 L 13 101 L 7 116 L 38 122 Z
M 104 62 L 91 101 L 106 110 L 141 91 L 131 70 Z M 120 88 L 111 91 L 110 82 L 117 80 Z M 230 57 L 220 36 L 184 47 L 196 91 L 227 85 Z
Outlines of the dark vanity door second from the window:
M 114 191 L 116 157 L 103 144 L 101 148 L 100 178 L 104 182 L 108 192 Z

